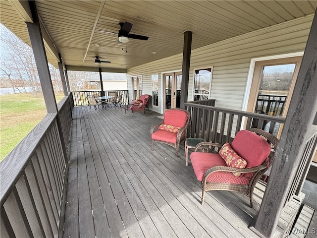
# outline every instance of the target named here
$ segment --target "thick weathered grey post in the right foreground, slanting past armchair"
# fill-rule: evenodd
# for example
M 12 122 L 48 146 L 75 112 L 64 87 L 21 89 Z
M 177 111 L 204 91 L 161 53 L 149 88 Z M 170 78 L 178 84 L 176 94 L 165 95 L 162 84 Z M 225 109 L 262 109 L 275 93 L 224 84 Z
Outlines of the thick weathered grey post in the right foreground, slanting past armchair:
M 317 11 L 254 228 L 272 237 L 317 112 Z

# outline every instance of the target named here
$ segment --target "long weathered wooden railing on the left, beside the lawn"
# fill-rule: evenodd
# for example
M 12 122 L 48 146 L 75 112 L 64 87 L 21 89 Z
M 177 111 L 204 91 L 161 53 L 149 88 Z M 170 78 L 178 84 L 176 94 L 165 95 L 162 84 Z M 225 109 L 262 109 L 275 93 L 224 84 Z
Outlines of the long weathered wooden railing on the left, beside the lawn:
M 59 102 L 58 113 L 47 114 L 0 163 L 0 237 L 58 237 L 70 98 Z

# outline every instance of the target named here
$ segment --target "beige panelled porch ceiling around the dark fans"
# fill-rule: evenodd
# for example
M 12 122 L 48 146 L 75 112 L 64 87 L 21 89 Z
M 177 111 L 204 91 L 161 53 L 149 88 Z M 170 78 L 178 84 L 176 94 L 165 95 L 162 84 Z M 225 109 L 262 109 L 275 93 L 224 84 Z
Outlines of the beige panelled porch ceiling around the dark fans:
M 67 69 L 96 71 L 94 57 L 99 56 L 111 61 L 102 63 L 104 71 L 120 71 L 182 53 L 186 30 L 193 32 L 192 49 L 196 49 L 313 14 L 317 1 L 38 0 L 36 5 L 47 57 L 55 67 L 60 53 Z M 0 14 L 1 23 L 30 45 L 26 1 L 1 0 Z M 121 44 L 117 35 L 99 31 L 117 32 L 118 23 L 124 21 L 133 24 L 131 33 L 149 40 Z

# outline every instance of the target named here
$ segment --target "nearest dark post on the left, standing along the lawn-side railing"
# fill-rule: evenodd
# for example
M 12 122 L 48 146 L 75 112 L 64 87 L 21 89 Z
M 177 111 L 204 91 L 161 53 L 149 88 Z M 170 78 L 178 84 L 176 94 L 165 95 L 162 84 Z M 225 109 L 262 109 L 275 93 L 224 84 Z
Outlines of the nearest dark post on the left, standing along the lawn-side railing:
M 51 80 L 48 60 L 45 53 L 44 42 L 42 38 L 38 14 L 36 11 L 35 1 L 29 1 L 32 12 L 33 23 L 26 22 L 32 50 L 38 69 L 38 74 L 41 82 L 44 101 L 48 113 L 57 113 L 57 105 Z

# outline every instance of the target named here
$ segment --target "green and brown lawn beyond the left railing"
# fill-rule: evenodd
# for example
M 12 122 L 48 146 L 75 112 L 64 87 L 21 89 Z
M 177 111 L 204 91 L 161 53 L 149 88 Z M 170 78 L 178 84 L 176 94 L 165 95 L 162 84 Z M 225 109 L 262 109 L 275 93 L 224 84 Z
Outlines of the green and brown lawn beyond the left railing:
M 55 93 L 59 102 L 63 93 Z M 6 94 L 0 96 L 0 161 L 47 114 L 43 95 L 38 93 Z

